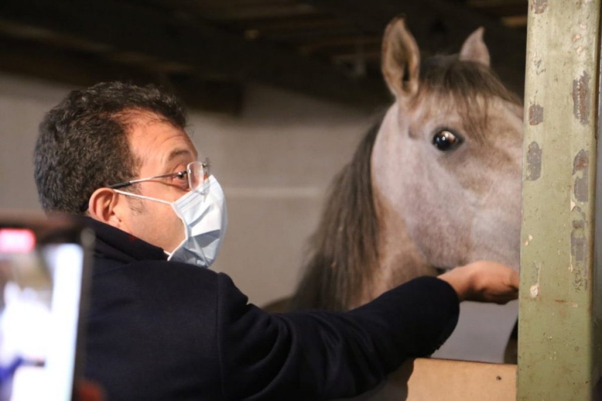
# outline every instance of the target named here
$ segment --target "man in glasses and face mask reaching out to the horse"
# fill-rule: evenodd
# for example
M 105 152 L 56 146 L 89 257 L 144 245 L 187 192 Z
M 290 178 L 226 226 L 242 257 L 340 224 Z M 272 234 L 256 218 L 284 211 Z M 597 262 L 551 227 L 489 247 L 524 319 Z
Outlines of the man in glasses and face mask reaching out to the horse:
M 247 304 L 227 275 L 205 268 L 225 204 L 185 123 L 175 97 L 113 82 L 73 91 L 40 124 L 43 208 L 87 216 L 98 237 L 86 375 L 108 399 L 352 396 L 431 354 L 459 301 L 516 298 L 516 272 L 477 262 L 347 313 L 270 315 Z

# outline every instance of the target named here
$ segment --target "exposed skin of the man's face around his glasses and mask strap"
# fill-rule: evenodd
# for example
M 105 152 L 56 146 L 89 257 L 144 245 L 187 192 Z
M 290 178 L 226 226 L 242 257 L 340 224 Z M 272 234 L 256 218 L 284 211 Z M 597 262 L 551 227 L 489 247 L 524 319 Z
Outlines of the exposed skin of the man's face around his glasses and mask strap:
M 137 178 L 186 170 L 197 159 L 194 145 L 184 130 L 151 112 L 134 112 L 128 139 L 140 170 Z M 187 193 L 181 182 L 156 179 L 138 183 L 140 195 L 173 202 Z M 121 195 L 124 196 L 124 195 Z M 124 219 L 129 233 L 168 252 L 184 239 L 184 225 L 170 204 L 127 197 L 132 209 Z

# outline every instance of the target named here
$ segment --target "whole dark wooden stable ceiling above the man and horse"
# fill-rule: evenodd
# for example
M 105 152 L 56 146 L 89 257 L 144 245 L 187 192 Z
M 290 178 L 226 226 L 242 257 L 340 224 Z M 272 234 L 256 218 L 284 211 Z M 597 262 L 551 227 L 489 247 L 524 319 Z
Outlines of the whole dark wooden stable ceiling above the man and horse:
M 492 64 L 521 91 L 527 0 L 2 0 L 0 70 L 90 85 L 157 82 L 236 113 L 246 82 L 363 108 L 389 102 L 386 23 L 405 14 L 424 56 L 485 26 Z

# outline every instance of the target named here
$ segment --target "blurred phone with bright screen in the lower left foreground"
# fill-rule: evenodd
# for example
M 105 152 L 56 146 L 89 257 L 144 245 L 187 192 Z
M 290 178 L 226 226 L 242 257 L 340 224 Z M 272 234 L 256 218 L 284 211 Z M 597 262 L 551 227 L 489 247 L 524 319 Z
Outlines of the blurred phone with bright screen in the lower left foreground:
M 68 231 L 0 225 L 0 401 L 73 398 L 85 257 Z

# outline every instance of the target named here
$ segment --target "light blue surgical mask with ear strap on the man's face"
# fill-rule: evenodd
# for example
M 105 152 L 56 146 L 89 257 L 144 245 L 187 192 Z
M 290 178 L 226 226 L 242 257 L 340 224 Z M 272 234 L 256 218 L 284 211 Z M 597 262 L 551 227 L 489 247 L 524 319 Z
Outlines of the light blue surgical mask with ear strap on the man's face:
M 184 224 L 184 240 L 173 249 L 167 260 L 190 263 L 208 268 L 216 260 L 222 239 L 228 227 L 226 200 L 222 186 L 214 176 L 174 202 L 168 202 L 130 192 L 115 192 L 161 203 L 170 204 Z

